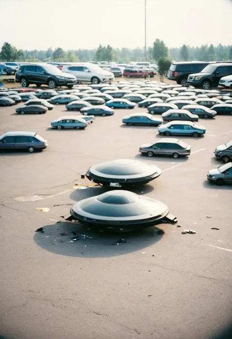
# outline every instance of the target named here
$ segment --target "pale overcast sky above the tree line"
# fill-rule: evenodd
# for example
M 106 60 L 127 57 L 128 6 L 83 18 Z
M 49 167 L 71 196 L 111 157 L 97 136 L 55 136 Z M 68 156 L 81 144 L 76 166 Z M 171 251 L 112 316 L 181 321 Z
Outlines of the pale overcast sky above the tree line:
M 145 0 L 0 0 L 0 46 L 144 46 Z M 147 45 L 232 45 L 232 1 L 147 0 Z

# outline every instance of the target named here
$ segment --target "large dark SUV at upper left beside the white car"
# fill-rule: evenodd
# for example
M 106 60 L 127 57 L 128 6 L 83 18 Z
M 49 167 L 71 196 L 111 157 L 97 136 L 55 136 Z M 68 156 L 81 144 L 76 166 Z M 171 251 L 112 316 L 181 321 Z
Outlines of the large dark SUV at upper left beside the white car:
M 57 86 L 67 86 L 71 88 L 76 83 L 74 75 L 64 73 L 59 68 L 49 64 L 28 64 L 22 65 L 15 74 L 16 82 L 20 82 L 22 87 L 35 84 L 40 87 L 42 84 L 48 85 L 50 89 Z

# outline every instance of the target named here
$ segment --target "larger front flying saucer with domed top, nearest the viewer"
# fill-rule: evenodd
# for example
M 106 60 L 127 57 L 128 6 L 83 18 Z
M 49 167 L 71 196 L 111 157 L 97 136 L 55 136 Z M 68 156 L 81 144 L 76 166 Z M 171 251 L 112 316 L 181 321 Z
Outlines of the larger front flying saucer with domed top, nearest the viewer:
M 70 209 L 73 218 L 90 226 L 135 229 L 176 222 L 165 203 L 124 190 L 108 191 L 80 200 Z

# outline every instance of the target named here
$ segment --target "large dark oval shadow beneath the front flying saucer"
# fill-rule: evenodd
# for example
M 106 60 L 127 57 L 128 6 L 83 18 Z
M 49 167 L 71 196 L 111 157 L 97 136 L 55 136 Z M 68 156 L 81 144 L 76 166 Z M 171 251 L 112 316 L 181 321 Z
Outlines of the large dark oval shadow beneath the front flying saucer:
M 163 225 L 168 227 L 167 225 Z M 35 243 L 47 251 L 72 257 L 111 257 L 136 252 L 154 245 L 162 239 L 158 227 L 143 228 L 134 232 L 108 233 L 96 231 L 80 223 L 62 222 L 43 226 L 44 233 L 35 232 Z M 62 232 L 67 235 L 61 236 Z M 76 232 L 79 240 L 73 241 Z M 124 239 L 125 243 L 118 243 Z M 117 245 L 118 244 L 118 245 Z M 155 254 L 155 249 L 154 249 Z

